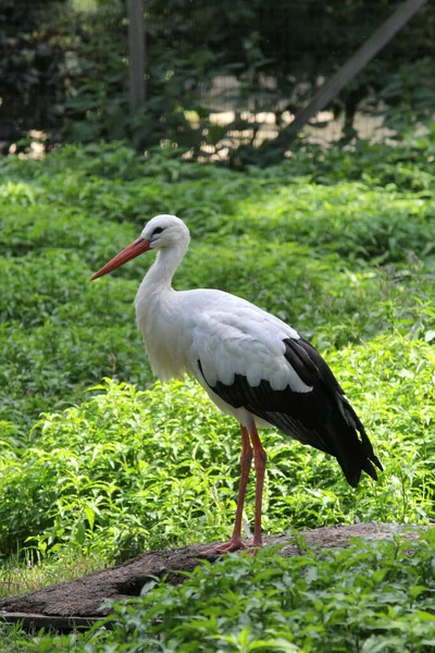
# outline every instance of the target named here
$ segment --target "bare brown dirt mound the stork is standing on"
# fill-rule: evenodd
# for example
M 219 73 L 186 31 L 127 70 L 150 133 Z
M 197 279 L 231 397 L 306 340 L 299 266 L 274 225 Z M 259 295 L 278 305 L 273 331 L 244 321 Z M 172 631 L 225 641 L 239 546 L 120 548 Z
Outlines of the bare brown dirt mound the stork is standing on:
M 347 546 L 351 538 L 385 540 L 398 533 L 413 540 L 418 538 L 419 527 L 370 522 L 300 531 L 307 544 L 320 549 Z M 264 538 L 264 543 L 282 544 L 279 553 L 283 556 L 300 554 L 298 545 L 288 535 L 270 535 Z M 176 584 L 185 578 L 178 571 L 191 571 L 204 558 L 212 562 L 217 559 L 217 556 L 201 554 L 210 545 L 211 543 L 197 544 L 150 552 L 76 580 L 3 599 L 0 601 L 0 618 L 10 623 L 23 620 L 25 626 L 36 628 L 45 626 L 69 630 L 88 627 L 110 613 L 110 607 L 104 603 L 108 599 L 122 600 L 139 595 L 150 576 L 166 576 L 167 582 Z

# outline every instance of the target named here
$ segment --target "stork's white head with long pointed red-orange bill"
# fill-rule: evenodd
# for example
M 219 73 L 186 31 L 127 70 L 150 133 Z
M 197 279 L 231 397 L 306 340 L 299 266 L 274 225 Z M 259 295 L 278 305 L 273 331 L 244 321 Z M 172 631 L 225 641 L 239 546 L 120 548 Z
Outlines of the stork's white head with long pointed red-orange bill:
M 90 281 L 116 270 L 127 261 L 150 249 L 183 249 L 189 244 L 189 230 L 176 215 L 156 215 L 145 225 L 137 241 L 120 251 L 111 261 L 96 272 Z

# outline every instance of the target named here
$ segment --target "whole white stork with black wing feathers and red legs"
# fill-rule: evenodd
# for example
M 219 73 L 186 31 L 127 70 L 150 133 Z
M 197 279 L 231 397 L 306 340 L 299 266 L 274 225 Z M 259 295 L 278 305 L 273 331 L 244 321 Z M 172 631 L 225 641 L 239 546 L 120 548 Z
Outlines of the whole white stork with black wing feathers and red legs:
M 241 478 L 229 542 L 208 553 L 246 549 L 241 519 L 253 457 L 256 518 L 253 546 L 262 545 L 261 503 L 266 454 L 257 427 L 284 433 L 332 454 L 356 486 L 364 470 L 377 479 L 364 427 L 319 352 L 295 329 L 253 304 L 222 291 L 176 292 L 172 278 L 189 245 L 186 224 L 175 215 L 157 215 L 91 280 L 144 251 L 156 249 L 135 299 L 136 318 L 157 377 L 165 381 L 187 373 L 241 429 Z

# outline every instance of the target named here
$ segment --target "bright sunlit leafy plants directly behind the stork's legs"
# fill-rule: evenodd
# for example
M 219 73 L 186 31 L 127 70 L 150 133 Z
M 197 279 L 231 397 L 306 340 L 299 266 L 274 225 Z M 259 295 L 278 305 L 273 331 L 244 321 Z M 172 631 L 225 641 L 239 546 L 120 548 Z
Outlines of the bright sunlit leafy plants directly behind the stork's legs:
M 330 456 L 265 431 L 266 528 L 276 533 L 355 516 L 427 521 L 435 492 L 431 345 L 380 336 L 328 361 L 385 472 L 377 484 L 364 479 L 355 491 Z M 224 538 L 238 482 L 236 422 L 217 414 L 192 381 L 157 383 L 145 392 L 109 382 L 101 391 L 77 408 L 42 418 L 33 446 L 18 452 L 13 465 L 5 460 L 5 551 L 34 532 L 40 542 L 78 542 L 109 558 Z

